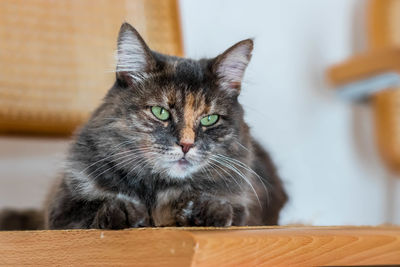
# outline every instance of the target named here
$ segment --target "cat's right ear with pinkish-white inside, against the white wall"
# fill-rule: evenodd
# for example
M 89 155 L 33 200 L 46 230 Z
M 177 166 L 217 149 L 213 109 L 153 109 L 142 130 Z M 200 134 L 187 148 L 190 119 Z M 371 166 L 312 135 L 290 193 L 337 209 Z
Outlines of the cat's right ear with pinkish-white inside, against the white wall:
M 238 42 L 215 58 L 212 71 L 217 76 L 219 87 L 229 94 L 238 95 L 244 72 L 251 59 L 253 40 Z

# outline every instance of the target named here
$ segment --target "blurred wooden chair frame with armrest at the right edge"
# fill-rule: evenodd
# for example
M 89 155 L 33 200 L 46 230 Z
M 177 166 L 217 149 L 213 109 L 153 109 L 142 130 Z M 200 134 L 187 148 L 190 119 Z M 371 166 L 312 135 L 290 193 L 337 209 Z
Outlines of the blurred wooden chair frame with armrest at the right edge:
M 354 82 L 350 91 L 377 91 L 371 99 L 379 151 L 400 173 L 400 0 L 370 1 L 368 34 L 369 51 L 333 66 L 328 75 L 336 86 Z

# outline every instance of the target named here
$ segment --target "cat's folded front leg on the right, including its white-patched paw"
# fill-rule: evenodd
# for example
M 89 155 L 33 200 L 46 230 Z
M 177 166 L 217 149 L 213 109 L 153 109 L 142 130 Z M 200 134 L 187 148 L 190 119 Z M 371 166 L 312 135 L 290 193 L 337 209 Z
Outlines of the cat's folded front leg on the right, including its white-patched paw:
M 243 225 L 246 216 L 244 206 L 210 194 L 182 195 L 173 213 L 179 226 Z

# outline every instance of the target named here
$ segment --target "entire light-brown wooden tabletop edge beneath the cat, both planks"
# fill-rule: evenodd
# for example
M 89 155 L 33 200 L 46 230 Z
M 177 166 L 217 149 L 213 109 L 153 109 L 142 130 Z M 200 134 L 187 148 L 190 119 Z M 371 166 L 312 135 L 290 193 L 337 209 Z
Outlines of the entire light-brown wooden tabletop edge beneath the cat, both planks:
M 399 227 L 157 228 L 0 232 L 0 265 L 400 264 Z

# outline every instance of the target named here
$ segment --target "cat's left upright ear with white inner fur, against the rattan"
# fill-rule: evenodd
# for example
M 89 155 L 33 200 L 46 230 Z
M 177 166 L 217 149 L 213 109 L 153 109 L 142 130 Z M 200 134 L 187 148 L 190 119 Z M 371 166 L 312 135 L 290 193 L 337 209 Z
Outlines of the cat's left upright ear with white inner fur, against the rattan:
M 141 79 L 156 65 L 150 48 L 129 23 L 119 30 L 117 48 L 117 78 L 128 84 Z

